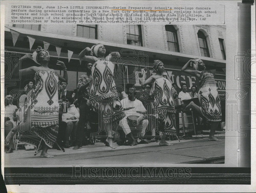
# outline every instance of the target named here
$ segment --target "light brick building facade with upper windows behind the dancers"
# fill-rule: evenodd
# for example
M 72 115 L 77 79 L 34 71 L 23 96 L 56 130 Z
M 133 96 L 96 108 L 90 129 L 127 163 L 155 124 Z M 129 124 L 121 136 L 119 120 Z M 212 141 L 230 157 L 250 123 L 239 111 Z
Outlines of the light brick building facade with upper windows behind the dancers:
M 10 29 L 20 32 L 16 45 L 13 46 L 10 30 L 5 28 L 5 49 L 11 53 L 16 52 L 21 56 L 33 53 L 38 45 L 43 47 L 42 41 L 62 48 L 59 60 L 65 62 L 68 68 L 68 90 L 76 89 L 80 75 L 84 74 L 85 62 L 80 65 L 78 54 L 85 47 L 101 43 L 105 45 L 107 53 L 123 49 L 134 50 L 138 57 L 138 66 L 127 63 L 127 73 L 135 73 L 136 80 L 125 80 L 124 83 L 139 83 L 140 54 L 147 56 L 143 65 L 153 72 L 153 61 L 162 60 L 169 76 L 178 86 L 183 82 L 192 85 L 198 84 L 194 77 L 182 74 L 180 69 L 192 58 L 202 59 L 207 69 L 215 74 L 216 84 L 219 89 L 225 89 L 226 68 L 226 27 L 221 25 L 13 25 L 7 23 Z M 29 49 L 28 35 L 36 39 L 31 51 Z M 83 37 L 82 37 L 83 36 Z M 58 59 L 55 46 L 49 46 L 51 59 Z M 73 51 L 68 62 L 67 50 Z M 26 61 L 22 68 L 35 65 L 33 61 Z M 58 69 L 56 65 L 51 68 Z M 150 74 L 148 74 L 150 75 Z M 21 82 L 30 77 L 22 77 Z M 71 81 L 72 80 L 72 81 Z M 19 85 L 19 83 L 17 83 Z M 21 86 L 19 86 L 21 88 Z

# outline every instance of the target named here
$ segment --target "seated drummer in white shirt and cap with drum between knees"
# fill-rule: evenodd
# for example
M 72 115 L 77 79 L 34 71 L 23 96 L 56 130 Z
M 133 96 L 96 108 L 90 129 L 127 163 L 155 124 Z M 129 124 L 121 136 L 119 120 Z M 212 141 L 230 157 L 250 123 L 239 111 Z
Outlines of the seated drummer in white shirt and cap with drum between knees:
M 125 117 L 119 122 L 119 125 L 122 127 L 126 137 L 128 138 L 128 142 L 125 145 L 135 146 L 138 144 L 138 134 L 141 136 L 145 135 L 145 131 L 148 125 L 148 120 L 143 120 L 144 115 L 140 113 L 146 113 L 146 109 L 143 106 L 142 102 L 135 98 L 135 88 L 129 88 L 128 98 L 124 98 L 121 100 L 121 104 L 124 108 Z M 138 111 L 138 112 L 137 112 Z M 136 136 L 133 136 L 131 129 L 127 122 L 127 117 L 129 115 L 137 115 L 137 124 L 142 126 L 141 131 L 137 132 Z M 135 126 L 135 125 L 134 125 Z M 138 128 L 139 129 L 139 128 Z M 141 140 L 139 144 L 147 143 L 144 140 Z

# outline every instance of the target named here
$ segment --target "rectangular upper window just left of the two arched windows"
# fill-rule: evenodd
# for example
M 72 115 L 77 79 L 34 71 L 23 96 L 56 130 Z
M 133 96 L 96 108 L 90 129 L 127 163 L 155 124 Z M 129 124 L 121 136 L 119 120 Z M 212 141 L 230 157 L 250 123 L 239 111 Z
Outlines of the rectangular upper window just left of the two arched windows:
M 127 44 L 143 46 L 141 25 L 126 25 Z

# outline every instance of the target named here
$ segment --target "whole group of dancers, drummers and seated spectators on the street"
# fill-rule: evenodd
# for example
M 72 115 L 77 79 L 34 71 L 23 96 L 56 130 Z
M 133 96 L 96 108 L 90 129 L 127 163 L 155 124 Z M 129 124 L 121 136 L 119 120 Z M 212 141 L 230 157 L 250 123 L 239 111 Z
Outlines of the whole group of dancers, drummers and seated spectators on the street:
M 181 91 L 173 83 L 160 60 L 154 60 L 155 74 L 146 79 L 146 71 L 142 69 L 144 81 L 142 86 L 152 85 L 151 113 L 148 113 L 142 101 L 136 97 L 133 84 L 126 84 L 124 91 L 116 90 L 114 70 L 111 59 L 120 57 L 118 52 L 105 56 L 106 49 L 102 44 L 87 47 L 81 51 L 79 58 L 86 61 L 86 73 L 80 76 L 77 94 L 67 90 L 68 74 L 64 62 L 57 61 L 63 70 L 61 76 L 56 70 L 50 69 L 48 50 L 40 46 L 36 49 L 36 58 L 26 54 L 14 67 L 13 75 L 33 75 L 34 80 L 24 82 L 24 91 L 13 105 L 12 96 L 5 97 L 5 142 L 9 144 L 6 153 L 14 150 L 13 133 L 18 133 L 19 141 L 25 143 L 26 149 L 38 148 L 41 144 L 40 157 L 51 158 L 47 153 L 57 143 L 64 148 L 79 149 L 82 145 L 93 145 L 93 136 L 100 136 L 101 141 L 112 149 L 117 146 L 114 136 L 119 133 L 117 145 L 148 143 L 144 140 L 149 122 L 155 121 L 152 133 L 159 133 L 159 145 L 173 145 L 166 141 L 166 136 L 179 137 L 179 113 L 175 109 L 175 100 L 182 101 L 198 97 L 200 105 L 191 101 L 183 108 L 192 110 L 197 124 L 201 119 L 210 122 L 211 131 L 208 140 L 219 141 L 214 133 L 221 121 L 221 107 L 214 76 L 206 71 L 202 60 L 189 60 L 182 71 L 199 79 L 199 92 L 192 86 L 187 92 L 187 85 L 181 85 Z M 26 59 L 37 61 L 40 66 L 22 69 Z M 193 70 L 188 69 L 192 67 Z M 20 113 L 22 112 L 22 113 Z M 27 128 L 24 130 L 24 128 Z M 160 134 L 161 133 L 161 134 Z M 140 141 L 138 141 L 140 140 Z

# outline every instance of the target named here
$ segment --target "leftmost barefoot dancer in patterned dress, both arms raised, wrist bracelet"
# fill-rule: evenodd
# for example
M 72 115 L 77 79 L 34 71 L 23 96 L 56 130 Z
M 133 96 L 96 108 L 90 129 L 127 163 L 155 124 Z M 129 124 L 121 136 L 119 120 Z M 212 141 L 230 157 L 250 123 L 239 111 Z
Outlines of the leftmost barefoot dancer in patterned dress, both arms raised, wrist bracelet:
M 47 153 L 48 148 L 52 148 L 58 135 L 59 125 L 59 103 L 58 103 L 58 84 L 60 81 L 68 81 L 67 68 L 64 62 L 59 61 L 56 65 L 63 68 L 64 78 L 59 75 L 54 69 L 48 67 L 50 55 L 48 50 L 42 49 L 40 46 L 36 49 L 36 61 L 40 66 L 32 66 L 26 69 L 20 69 L 20 63 L 29 58 L 33 60 L 30 54 L 26 54 L 18 62 L 14 68 L 13 74 L 33 74 L 35 75 L 35 85 L 31 92 L 27 94 L 29 100 L 29 108 L 25 112 L 23 122 L 20 128 L 26 129 L 26 137 L 21 137 L 20 140 L 38 146 L 40 140 L 43 141 L 43 150 L 40 157 L 52 158 L 54 156 Z M 29 130 L 29 131 L 28 131 Z M 34 135 L 31 136 L 31 135 Z

